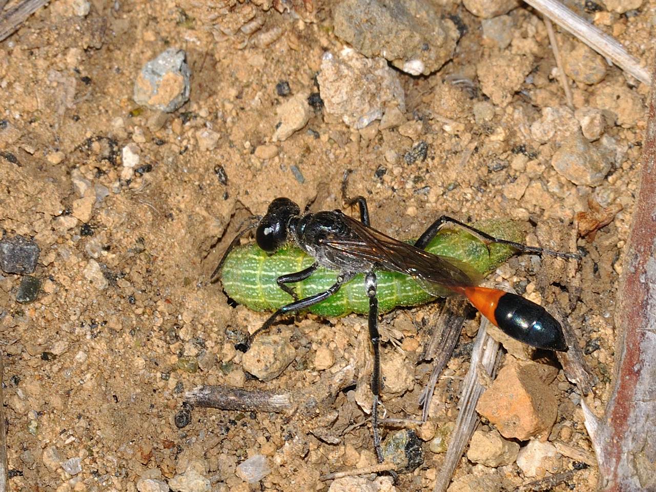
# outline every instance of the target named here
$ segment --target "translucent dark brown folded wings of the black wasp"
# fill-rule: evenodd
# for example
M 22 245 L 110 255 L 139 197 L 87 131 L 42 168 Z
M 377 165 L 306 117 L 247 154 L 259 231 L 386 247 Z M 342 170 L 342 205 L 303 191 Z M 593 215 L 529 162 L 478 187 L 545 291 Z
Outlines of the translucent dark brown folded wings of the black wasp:
M 424 291 L 436 297 L 454 293 L 453 289 L 457 287 L 478 285 L 481 280 L 480 274 L 464 262 L 428 253 L 349 216 L 344 218 L 352 234 L 348 237 L 329 236 L 324 242 L 341 255 L 367 260 L 380 270 L 414 277 Z

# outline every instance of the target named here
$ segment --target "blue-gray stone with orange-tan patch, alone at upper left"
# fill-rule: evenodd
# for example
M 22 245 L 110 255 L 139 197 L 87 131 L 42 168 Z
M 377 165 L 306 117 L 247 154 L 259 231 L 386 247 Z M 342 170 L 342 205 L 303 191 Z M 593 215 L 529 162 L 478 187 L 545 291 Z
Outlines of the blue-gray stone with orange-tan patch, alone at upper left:
M 134 102 L 172 113 L 189 100 L 191 72 L 184 50 L 169 48 L 146 63 L 134 82 Z

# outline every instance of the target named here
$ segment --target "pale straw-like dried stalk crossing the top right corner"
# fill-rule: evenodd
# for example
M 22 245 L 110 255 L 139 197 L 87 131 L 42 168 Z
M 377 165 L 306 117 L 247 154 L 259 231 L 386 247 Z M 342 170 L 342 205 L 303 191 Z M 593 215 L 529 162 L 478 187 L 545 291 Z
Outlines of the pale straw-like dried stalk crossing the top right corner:
M 609 58 L 615 65 L 625 70 L 632 77 L 636 77 L 636 79 L 646 84 L 649 83 L 649 73 L 645 68 L 640 66 L 640 60 L 628 54 L 624 47 L 617 42 L 617 39 L 607 35 L 596 26 L 592 26 L 590 22 L 567 9 L 558 0 L 524 1 L 531 5 L 533 9 L 543 14 L 543 16 L 556 22 L 558 26 L 575 35 L 594 51 L 605 56 L 605 58 Z

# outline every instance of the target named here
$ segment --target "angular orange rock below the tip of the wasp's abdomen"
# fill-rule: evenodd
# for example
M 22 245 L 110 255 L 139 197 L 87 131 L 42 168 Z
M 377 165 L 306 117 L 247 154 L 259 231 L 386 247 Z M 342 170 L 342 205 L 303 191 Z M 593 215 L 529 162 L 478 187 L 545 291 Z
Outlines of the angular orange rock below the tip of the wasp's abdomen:
M 476 411 L 504 438 L 546 439 L 556 422 L 558 402 L 548 386 L 558 369 L 508 356 L 497 379 L 487 388 Z

